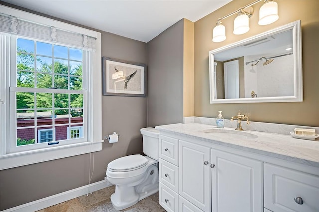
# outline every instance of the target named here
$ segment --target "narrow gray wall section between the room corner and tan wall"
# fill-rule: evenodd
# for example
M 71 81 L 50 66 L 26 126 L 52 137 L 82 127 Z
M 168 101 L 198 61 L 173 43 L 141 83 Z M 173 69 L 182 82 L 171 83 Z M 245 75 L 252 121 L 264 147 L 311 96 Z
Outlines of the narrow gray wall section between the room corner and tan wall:
M 150 127 L 183 122 L 183 36 L 182 19 L 147 44 Z

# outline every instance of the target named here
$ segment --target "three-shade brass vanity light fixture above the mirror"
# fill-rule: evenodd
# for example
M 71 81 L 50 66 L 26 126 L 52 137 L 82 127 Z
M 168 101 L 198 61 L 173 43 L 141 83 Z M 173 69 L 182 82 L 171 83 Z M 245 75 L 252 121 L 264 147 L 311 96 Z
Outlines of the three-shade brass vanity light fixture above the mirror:
M 222 42 L 226 40 L 226 28 L 222 25 L 221 20 L 237 14 L 237 17 L 234 20 L 234 31 L 235 35 L 244 34 L 249 31 L 249 18 L 253 14 L 252 5 L 260 2 L 262 0 L 256 0 L 250 4 L 247 4 L 244 7 L 239 8 L 238 10 L 225 15 L 222 18 L 217 19 L 217 24 L 213 29 L 213 42 Z M 273 0 L 263 0 L 264 4 L 259 9 L 259 25 L 267 25 L 278 20 L 278 5 Z

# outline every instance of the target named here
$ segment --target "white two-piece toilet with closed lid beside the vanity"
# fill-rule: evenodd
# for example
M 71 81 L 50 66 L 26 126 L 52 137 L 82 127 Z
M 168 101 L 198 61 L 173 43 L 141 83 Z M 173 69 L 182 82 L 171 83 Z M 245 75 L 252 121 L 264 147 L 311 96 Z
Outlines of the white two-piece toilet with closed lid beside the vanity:
M 115 185 L 111 203 L 117 210 L 128 208 L 158 192 L 160 131 L 148 127 L 140 130 L 143 152 L 147 156 L 129 155 L 111 161 L 106 170 L 107 180 Z

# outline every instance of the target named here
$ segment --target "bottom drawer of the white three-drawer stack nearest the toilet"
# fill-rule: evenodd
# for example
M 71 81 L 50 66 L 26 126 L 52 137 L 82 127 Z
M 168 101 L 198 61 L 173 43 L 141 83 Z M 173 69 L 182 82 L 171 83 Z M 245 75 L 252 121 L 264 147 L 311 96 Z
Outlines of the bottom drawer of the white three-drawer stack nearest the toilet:
M 160 205 L 167 212 L 178 212 L 178 194 L 160 182 Z

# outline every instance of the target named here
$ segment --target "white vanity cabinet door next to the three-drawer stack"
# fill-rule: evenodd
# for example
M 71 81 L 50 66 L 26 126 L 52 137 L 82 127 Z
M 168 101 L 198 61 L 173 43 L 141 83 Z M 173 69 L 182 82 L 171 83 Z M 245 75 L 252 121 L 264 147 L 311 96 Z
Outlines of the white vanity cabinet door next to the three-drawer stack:
M 210 148 L 179 141 L 179 195 L 205 212 L 211 211 Z

